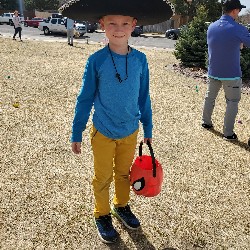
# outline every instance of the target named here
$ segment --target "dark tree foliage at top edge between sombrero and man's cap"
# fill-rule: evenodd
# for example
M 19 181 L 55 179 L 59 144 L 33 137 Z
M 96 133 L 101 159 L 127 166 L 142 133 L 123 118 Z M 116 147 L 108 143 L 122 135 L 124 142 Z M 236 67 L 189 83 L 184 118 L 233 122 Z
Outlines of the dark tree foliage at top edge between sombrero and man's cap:
M 213 22 L 221 16 L 222 8 L 218 0 L 192 0 L 188 3 L 187 0 L 170 0 L 175 6 L 177 14 L 182 16 L 189 16 L 190 20 L 197 14 L 197 9 L 204 6 L 207 10 L 208 22 Z

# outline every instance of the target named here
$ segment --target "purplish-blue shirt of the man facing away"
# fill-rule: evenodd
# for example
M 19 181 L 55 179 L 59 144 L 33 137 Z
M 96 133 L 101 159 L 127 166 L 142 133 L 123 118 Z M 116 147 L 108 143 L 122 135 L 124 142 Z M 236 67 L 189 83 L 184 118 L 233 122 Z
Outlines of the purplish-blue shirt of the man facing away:
M 232 80 L 242 76 L 240 44 L 250 47 L 250 34 L 246 27 L 223 15 L 210 24 L 207 31 L 208 76 Z

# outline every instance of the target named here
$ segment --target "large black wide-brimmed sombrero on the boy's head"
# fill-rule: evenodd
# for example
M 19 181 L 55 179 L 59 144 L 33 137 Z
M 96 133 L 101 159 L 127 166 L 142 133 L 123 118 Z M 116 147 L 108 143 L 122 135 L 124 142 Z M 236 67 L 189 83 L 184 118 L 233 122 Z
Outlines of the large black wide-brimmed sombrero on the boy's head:
M 98 22 L 106 15 L 123 15 L 135 17 L 139 25 L 152 25 L 170 19 L 174 7 L 169 0 L 68 0 L 59 11 L 74 20 Z

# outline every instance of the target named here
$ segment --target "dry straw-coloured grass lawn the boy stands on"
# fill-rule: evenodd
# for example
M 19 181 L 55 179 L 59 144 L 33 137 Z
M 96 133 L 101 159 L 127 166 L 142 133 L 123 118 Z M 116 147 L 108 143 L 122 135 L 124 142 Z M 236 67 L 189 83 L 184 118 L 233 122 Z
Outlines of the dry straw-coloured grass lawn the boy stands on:
M 249 95 L 242 95 L 235 124 L 239 141 L 227 142 L 223 91 L 214 130 L 202 129 L 204 80 L 173 70 L 179 62 L 172 52 L 145 48 L 163 188 L 154 198 L 131 192 L 141 229 L 126 230 L 114 218 L 120 239 L 100 242 L 91 121 L 80 156 L 69 138 L 86 60 L 102 47 L 0 38 L 0 249 L 249 249 Z

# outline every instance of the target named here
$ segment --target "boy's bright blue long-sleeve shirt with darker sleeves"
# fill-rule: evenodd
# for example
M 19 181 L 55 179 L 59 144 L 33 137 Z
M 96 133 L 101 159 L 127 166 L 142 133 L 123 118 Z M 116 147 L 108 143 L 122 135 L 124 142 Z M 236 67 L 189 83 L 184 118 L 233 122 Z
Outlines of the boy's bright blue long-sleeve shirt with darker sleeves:
M 126 78 L 126 55 L 112 52 L 121 79 Z M 144 137 L 152 138 L 152 110 L 149 95 L 149 70 L 145 54 L 132 49 L 127 55 L 128 78 L 122 83 L 108 47 L 95 52 L 87 61 L 82 88 L 77 98 L 72 125 L 72 142 L 82 141 L 92 106 L 93 124 L 103 135 L 120 139 L 143 124 Z

